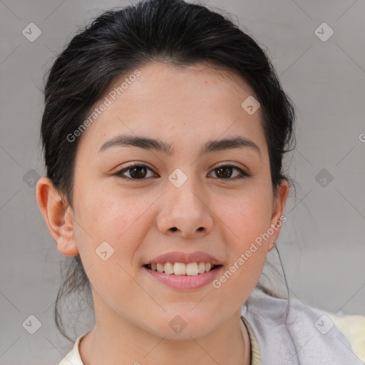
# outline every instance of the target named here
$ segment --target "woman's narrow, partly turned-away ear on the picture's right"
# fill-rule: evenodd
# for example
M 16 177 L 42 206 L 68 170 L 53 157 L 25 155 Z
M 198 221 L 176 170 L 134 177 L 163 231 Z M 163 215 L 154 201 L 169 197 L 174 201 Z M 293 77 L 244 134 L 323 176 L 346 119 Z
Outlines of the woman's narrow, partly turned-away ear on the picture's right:
M 275 240 L 279 237 L 280 230 L 283 223 L 287 220 L 284 217 L 284 206 L 287 202 L 287 196 L 289 193 L 289 184 L 287 180 L 282 180 L 281 185 L 277 187 L 277 195 L 274 196 L 274 202 L 272 205 L 272 217 L 270 219 L 270 228 L 274 231 L 269 238 L 269 245 L 267 246 L 267 251 L 271 251 L 274 248 Z

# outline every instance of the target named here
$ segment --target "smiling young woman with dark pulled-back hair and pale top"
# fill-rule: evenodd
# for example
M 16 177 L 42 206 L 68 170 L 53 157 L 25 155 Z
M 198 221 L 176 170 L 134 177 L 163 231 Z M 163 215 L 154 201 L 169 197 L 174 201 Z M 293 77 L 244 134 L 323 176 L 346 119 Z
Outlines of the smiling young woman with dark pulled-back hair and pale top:
M 38 205 L 96 317 L 61 364 L 359 364 L 328 317 L 257 285 L 294 108 L 250 36 L 178 0 L 108 11 L 45 102 Z

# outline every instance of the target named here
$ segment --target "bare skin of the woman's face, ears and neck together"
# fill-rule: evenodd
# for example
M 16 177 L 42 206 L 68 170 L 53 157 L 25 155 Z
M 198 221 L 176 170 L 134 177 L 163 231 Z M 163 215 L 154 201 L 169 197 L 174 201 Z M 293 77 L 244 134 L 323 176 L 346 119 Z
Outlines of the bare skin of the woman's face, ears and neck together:
M 240 310 L 280 228 L 218 289 L 212 284 L 171 289 L 142 264 L 166 252 L 203 251 L 219 259 L 225 271 L 280 220 L 289 186 L 283 181 L 277 197 L 272 195 L 260 109 L 249 115 L 241 107 L 254 94 L 232 71 L 158 62 L 139 70 L 78 137 L 73 209 L 63 205 L 47 178 L 37 185 L 38 205 L 59 252 L 80 254 L 91 281 L 96 328 L 81 341 L 81 359 L 86 365 L 120 364 L 120 359 L 123 364 L 250 364 Z M 130 146 L 98 153 L 106 140 L 122 133 L 171 143 L 174 154 Z M 261 155 L 250 148 L 199 154 L 207 140 L 236 135 L 250 138 Z M 151 169 L 145 180 L 113 175 L 133 162 Z M 232 168 L 232 177 L 225 178 L 215 170 L 220 163 L 252 176 L 236 179 L 240 170 Z M 187 176 L 181 187 L 168 180 L 177 168 Z M 124 175 L 136 176 L 130 170 Z M 105 241 L 114 254 L 103 261 L 95 250 Z M 178 334 L 169 326 L 177 315 L 186 323 Z

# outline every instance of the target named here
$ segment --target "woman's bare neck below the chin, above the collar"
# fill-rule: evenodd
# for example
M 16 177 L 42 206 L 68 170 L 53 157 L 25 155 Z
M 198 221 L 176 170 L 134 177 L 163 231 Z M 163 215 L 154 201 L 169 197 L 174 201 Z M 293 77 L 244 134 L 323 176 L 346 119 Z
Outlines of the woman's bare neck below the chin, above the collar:
M 189 339 L 167 339 L 135 326 L 124 317 L 96 312 L 96 327 L 81 339 L 84 365 L 250 365 L 250 337 L 240 312 L 209 334 Z

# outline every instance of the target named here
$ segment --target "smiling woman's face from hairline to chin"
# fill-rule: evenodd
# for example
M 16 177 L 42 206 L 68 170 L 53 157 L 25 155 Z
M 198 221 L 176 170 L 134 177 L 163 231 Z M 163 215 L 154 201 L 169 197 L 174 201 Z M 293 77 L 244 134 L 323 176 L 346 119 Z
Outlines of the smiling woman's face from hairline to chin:
M 245 81 L 203 64 L 148 63 L 139 71 L 115 81 L 108 92 L 125 78 L 128 87 L 115 101 L 109 96 L 78 137 L 72 233 L 58 250 L 79 252 L 96 306 L 155 334 L 204 335 L 240 311 L 255 288 L 279 235 L 272 227 L 287 187 L 273 197 L 261 110 L 242 108 L 253 95 Z M 115 142 L 121 135 L 170 149 Z M 230 138 L 236 143 L 210 143 Z M 143 266 L 171 252 L 183 255 L 157 262 L 220 266 L 185 277 Z M 196 252 L 210 256 L 188 256 Z M 172 320 L 186 324 L 180 335 Z

